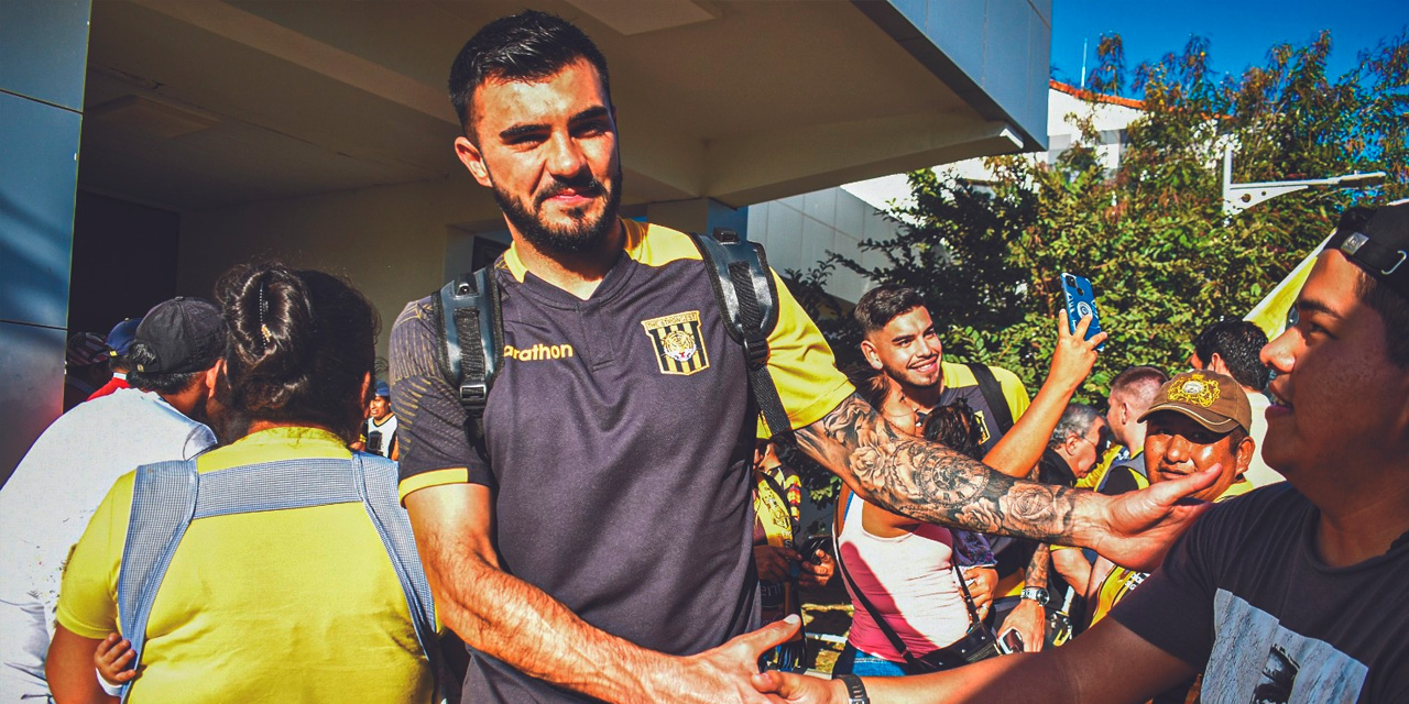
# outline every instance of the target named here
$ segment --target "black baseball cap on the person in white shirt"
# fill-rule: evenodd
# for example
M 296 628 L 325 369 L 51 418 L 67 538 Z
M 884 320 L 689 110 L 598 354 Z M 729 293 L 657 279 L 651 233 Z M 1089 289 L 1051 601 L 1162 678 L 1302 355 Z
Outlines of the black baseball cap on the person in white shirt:
M 132 346 L 144 345 L 155 359 L 135 369 L 148 375 L 185 375 L 210 369 L 225 351 L 220 308 L 203 298 L 178 296 L 158 303 L 137 327 Z

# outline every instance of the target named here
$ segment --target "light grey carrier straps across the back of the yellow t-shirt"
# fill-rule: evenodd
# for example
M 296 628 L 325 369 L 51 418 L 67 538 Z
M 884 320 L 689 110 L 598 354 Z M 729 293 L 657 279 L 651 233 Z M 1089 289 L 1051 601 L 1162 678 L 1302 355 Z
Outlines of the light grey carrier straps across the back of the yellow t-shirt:
M 131 667 L 141 663 L 156 591 L 193 520 L 354 501 L 366 508 L 386 548 L 416 636 L 438 681 L 435 604 L 410 518 L 397 501 L 396 463 L 361 452 L 352 460 L 286 459 L 206 474 L 197 473 L 196 460 L 138 467 L 117 582 L 120 629 L 135 653 Z M 123 701 L 130 689 L 131 683 L 123 686 Z

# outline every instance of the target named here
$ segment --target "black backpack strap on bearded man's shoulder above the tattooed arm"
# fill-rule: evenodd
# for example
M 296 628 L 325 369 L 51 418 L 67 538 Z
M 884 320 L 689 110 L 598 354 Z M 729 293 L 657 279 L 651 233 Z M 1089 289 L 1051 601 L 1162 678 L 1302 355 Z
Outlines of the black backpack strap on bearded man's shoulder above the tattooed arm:
M 758 411 L 774 438 L 792 435 L 778 386 L 768 372 L 768 335 L 778 325 L 778 287 L 768 269 L 764 248 L 740 241 L 733 230 L 716 228 L 713 237 L 690 234 L 710 272 L 710 286 L 719 303 L 728 337 L 744 348 L 748 384 Z

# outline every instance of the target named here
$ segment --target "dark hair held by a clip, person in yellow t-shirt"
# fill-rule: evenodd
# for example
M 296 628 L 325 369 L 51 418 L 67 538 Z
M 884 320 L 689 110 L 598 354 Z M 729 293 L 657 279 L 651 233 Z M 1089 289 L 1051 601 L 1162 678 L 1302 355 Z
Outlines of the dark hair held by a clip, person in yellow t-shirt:
M 230 329 L 220 400 L 249 420 L 318 425 L 356 439 L 376 365 L 376 310 L 351 284 L 282 263 L 216 284 Z

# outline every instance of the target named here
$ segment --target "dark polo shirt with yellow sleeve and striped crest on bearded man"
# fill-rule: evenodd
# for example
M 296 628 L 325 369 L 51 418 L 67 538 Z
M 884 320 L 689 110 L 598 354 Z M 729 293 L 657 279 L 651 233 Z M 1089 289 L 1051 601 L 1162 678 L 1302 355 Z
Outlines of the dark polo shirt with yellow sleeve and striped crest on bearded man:
M 485 411 L 485 466 L 435 359 L 430 298 L 392 331 L 402 496 L 495 489 L 506 572 L 634 643 L 686 655 L 758 622 L 748 458 L 762 429 L 743 349 L 689 238 L 626 221 L 626 251 L 588 300 L 496 270 L 504 363 Z M 776 276 L 775 276 L 776 279 Z M 795 428 L 848 394 L 816 325 L 779 282 L 768 366 Z M 572 701 L 475 658 L 468 701 Z

